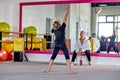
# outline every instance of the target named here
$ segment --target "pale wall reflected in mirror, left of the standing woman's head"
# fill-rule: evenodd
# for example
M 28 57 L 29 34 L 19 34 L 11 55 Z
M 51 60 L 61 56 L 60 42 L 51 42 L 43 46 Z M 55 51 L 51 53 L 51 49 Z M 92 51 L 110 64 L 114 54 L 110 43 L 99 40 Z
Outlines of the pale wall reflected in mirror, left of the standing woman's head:
M 23 28 L 33 25 L 37 28 L 39 34 L 45 34 L 46 18 L 54 20 L 55 5 L 37 5 L 23 7 Z

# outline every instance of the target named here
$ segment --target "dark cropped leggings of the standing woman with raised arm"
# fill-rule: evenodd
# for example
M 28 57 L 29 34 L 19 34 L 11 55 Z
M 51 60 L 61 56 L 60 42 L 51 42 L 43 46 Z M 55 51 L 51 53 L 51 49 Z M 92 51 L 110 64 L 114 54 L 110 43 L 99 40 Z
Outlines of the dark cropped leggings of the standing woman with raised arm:
M 60 49 L 63 51 L 66 60 L 70 59 L 69 54 L 68 54 L 68 49 L 67 49 L 66 45 L 63 45 L 62 47 L 55 46 L 54 50 L 53 50 L 53 54 L 51 56 L 51 59 L 54 60 L 56 58 Z

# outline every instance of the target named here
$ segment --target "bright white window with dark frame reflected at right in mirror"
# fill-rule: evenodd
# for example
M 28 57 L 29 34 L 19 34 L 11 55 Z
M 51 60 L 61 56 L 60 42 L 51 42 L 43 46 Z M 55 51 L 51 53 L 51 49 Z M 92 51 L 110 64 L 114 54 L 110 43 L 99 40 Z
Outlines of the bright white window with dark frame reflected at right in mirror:
M 98 36 L 108 37 L 117 30 L 116 41 L 120 42 L 120 16 L 98 16 L 98 19 Z

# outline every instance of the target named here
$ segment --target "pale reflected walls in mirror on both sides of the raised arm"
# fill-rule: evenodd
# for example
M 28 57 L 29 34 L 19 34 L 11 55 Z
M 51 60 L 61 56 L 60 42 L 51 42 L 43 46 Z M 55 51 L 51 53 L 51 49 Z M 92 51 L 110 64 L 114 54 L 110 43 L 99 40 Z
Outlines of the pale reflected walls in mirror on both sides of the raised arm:
M 50 33 L 53 22 L 63 17 L 68 4 L 23 6 L 22 27 L 35 26 L 39 34 Z M 89 13 L 89 14 L 88 14 Z M 66 38 L 71 40 L 71 51 L 74 50 L 79 32 L 84 30 L 87 38 L 90 35 L 91 4 L 70 4 L 70 14 L 66 27 Z

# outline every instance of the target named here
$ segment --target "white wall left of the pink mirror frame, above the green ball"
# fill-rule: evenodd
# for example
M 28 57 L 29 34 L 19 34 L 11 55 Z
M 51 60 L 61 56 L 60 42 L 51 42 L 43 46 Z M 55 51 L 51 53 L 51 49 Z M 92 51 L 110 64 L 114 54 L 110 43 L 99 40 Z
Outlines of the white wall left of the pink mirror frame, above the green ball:
M 50 0 L 0 0 L 0 22 L 10 24 L 12 31 L 19 31 L 19 3 Z M 56 0 L 51 0 L 56 1 Z M 64 1 L 64 0 L 63 0 Z M 7 16 L 6 16 L 7 15 Z

